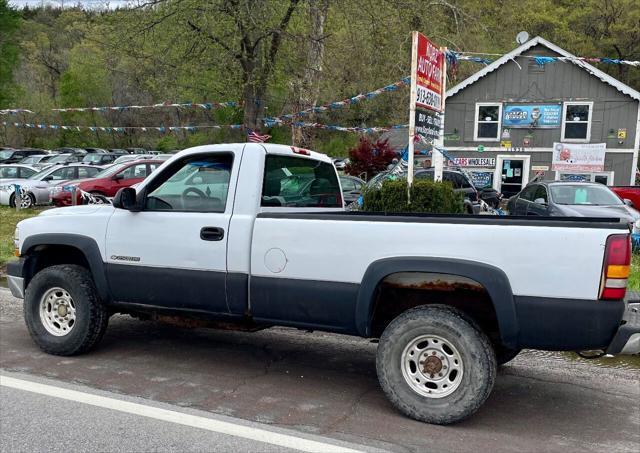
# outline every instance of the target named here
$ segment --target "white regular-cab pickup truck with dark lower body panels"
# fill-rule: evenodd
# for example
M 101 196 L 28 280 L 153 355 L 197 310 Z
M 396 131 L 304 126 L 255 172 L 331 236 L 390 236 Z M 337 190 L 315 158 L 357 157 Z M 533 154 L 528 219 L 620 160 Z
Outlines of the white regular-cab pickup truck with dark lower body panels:
M 640 350 L 628 225 L 344 212 L 331 160 L 290 146 L 185 150 L 113 206 L 20 222 L 15 246 L 48 353 L 88 351 L 118 312 L 377 338 L 382 389 L 430 423 L 476 411 L 522 348 Z

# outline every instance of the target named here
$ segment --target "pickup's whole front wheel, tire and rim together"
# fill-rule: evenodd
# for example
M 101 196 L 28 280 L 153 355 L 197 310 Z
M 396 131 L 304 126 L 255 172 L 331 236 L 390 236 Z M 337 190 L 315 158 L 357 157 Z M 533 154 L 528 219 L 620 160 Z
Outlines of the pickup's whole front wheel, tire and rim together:
M 24 319 L 40 349 L 69 356 L 86 352 L 100 341 L 109 313 L 91 273 L 82 266 L 62 264 L 43 269 L 29 282 Z

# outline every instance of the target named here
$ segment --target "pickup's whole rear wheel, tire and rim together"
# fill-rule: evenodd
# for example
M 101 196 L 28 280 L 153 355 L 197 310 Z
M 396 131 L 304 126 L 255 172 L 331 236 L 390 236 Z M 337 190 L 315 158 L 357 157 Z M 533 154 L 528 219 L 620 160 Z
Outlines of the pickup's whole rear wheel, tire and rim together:
M 487 336 L 445 306 L 417 307 L 394 319 L 380 338 L 376 366 L 398 410 L 439 425 L 476 412 L 491 393 L 497 368 Z

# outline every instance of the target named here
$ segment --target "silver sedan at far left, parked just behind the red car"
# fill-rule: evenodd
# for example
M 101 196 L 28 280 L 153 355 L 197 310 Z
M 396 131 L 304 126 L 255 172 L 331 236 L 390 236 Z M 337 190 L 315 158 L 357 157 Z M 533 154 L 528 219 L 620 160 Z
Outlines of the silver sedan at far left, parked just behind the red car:
M 9 179 L 0 183 L 0 205 L 15 207 L 15 185 L 22 193 L 20 207 L 29 208 L 51 202 L 50 188 L 71 179 L 91 178 L 103 168 L 97 165 L 56 165 L 32 175 L 28 179 Z

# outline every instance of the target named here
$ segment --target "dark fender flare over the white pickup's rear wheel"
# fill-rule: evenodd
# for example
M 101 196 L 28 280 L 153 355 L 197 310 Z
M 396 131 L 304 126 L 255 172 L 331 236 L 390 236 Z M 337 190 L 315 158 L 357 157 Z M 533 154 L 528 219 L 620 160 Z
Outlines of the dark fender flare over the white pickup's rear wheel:
M 507 275 L 489 264 L 451 258 L 398 257 L 371 263 L 362 277 L 356 301 L 356 329 L 361 336 L 368 337 L 371 334 L 374 295 L 378 284 L 397 272 L 450 274 L 477 281 L 489 293 L 502 342 L 509 347 L 517 345 L 518 319 Z

